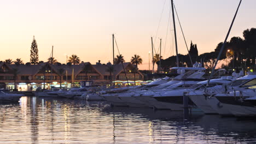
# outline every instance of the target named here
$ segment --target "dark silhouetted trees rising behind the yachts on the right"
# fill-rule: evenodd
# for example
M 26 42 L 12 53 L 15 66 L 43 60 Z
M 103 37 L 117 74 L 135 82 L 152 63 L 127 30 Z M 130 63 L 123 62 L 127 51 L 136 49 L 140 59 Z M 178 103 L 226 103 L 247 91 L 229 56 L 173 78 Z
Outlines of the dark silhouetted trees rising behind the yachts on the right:
M 193 63 L 202 63 L 203 67 L 211 70 L 219 55 L 223 43 L 219 43 L 212 52 L 198 55 L 197 45 L 190 44 L 190 56 Z M 189 55 L 178 55 L 180 67 L 191 67 Z M 226 69 L 246 69 L 251 67 L 255 69 L 256 57 L 256 28 L 246 29 L 243 31 L 243 38 L 232 37 L 225 45 L 219 60 L 226 59 L 222 68 Z M 159 62 L 157 63 L 159 64 Z M 161 59 L 162 70 L 168 71 L 171 67 L 176 67 L 176 56 Z

